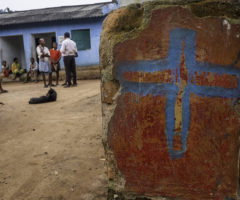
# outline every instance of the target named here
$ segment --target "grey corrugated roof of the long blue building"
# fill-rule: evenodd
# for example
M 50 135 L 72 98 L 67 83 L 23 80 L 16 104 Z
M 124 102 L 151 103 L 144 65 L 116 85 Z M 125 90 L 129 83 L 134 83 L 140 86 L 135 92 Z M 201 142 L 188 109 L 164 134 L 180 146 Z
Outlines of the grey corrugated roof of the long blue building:
M 102 12 L 102 8 L 110 3 L 108 2 L 1 13 L 0 26 L 103 17 L 105 14 Z

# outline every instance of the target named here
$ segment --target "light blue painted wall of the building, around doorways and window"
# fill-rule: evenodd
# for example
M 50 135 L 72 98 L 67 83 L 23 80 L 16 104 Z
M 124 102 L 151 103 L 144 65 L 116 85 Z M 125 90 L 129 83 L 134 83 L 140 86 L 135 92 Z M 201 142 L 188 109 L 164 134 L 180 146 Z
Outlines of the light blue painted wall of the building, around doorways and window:
M 25 60 L 27 64 L 27 66 L 24 66 L 25 68 L 29 67 L 30 58 L 32 56 L 32 42 L 35 43 L 35 41 L 32 41 L 32 34 L 55 33 L 58 39 L 58 36 L 63 36 L 67 31 L 71 32 L 71 30 L 90 29 L 91 49 L 79 51 L 79 57 L 76 59 L 76 63 L 78 66 L 98 65 L 100 34 L 102 31 L 103 20 L 104 17 L 67 21 L 67 23 L 59 21 L 54 23 L 40 23 L 7 27 L 0 30 L 0 37 L 15 35 L 23 36 Z M 61 48 L 60 45 L 59 48 Z M 0 49 L 2 49 L 2 46 L 0 46 Z M 2 51 L 4 51 L 4 49 L 2 49 Z M 61 66 L 64 66 L 63 61 L 61 61 Z

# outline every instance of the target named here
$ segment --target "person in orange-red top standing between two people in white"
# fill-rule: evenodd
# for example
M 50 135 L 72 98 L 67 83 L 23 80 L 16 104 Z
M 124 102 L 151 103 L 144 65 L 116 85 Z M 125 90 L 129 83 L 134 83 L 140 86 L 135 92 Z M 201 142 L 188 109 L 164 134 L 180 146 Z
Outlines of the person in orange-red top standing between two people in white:
M 58 85 L 61 52 L 57 49 L 57 43 L 53 42 L 53 48 L 50 49 L 52 72 L 56 72 L 56 85 Z

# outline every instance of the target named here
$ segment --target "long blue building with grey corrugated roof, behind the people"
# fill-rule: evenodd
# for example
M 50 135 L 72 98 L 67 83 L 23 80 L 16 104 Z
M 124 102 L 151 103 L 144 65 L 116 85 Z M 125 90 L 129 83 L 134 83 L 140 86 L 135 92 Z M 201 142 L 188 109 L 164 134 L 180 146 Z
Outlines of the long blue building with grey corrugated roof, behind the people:
M 44 38 L 49 48 L 57 41 L 60 48 L 64 33 L 70 32 L 77 43 L 77 66 L 97 65 L 102 22 L 117 6 L 110 2 L 2 13 L 0 62 L 11 64 L 17 57 L 22 68 L 28 68 L 30 58 L 37 58 L 39 38 Z

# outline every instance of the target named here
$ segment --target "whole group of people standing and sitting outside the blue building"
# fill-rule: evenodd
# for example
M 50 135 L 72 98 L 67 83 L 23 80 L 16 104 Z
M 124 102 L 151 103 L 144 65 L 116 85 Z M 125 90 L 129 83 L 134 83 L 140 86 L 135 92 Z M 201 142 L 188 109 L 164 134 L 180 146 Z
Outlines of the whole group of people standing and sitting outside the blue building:
M 27 72 L 27 77 L 25 82 L 28 82 L 30 76 L 34 76 L 35 82 L 38 82 L 38 74 L 40 73 L 43 78 L 44 87 L 48 86 L 54 87 L 59 84 L 59 71 L 60 71 L 60 60 L 63 57 L 66 81 L 63 84 L 64 88 L 69 88 L 71 86 L 77 86 L 77 74 L 76 74 L 76 63 L 75 57 L 78 56 L 76 43 L 70 39 L 70 33 L 66 32 L 64 34 L 64 41 L 62 42 L 61 49 L 58 50 L 58 45 L 53 42 L 52 49 L 48 49 L 45 46 L 45 40 L 41 38 L 39 40 L 39 45 L 36 48 L 39 63 L 35 61 L 32 57 L 30 59 L 29 71 Z M 0 76 L 0 93 L 7 92 L 2 88 L 2 77 L 8 78 L 12 73 L 14 75 L 13 79 L 21 77 L 22 74 L 26 72 L 20 66 L 17 58 L 13 59 L 11 69 L 7 65 L 5 60 L 2 61 L 2 76 Z M 52 83 L 52 72 L 56 72 L 56 85 Z M 46 81 L 46 76 L 48 76 L 48 84 Z

